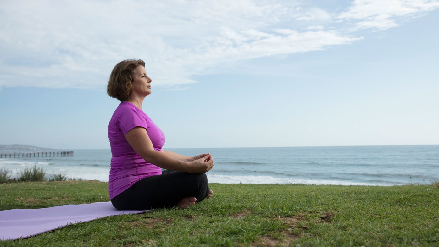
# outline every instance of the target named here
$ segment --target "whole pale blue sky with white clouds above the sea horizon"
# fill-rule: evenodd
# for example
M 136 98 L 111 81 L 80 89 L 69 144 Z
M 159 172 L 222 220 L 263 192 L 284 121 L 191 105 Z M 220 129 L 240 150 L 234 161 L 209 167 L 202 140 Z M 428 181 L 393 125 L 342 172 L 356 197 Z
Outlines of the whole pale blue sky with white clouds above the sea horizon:
M 0 3 L 0 144 L 109 148 L 146 62 L 165 148 L 439 144 L 439 1 Z

